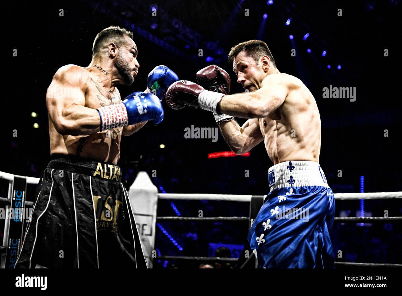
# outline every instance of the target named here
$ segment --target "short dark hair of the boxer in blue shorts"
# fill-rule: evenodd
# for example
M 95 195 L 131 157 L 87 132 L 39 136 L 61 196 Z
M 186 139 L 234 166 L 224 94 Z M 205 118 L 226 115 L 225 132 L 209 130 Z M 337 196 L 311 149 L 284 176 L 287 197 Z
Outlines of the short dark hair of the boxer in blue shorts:
M 264 41 L 249 40 L 232 47 L 229 52 L 229 62 L 233 63 L 236 56 L 242 51 L 254 58 L 256 63 L 258 63 L 258 60 L 260 60 L 262 56 L 268 56 L 271 63 L 276 67 L 274 57 L 272 56 L 267 43 Z

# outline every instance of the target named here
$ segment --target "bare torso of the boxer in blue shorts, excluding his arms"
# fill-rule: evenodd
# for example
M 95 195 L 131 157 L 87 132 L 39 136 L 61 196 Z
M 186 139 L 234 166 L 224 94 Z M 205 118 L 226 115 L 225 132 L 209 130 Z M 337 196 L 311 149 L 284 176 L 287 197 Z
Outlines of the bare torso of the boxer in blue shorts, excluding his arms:
M 287 83 L 289 93 L 279 108 L 258 119 L 265 149 L 274 164 L 289 160 L 318 162 L 321 121 L 316 101 L 299 79 L 279 75 Z

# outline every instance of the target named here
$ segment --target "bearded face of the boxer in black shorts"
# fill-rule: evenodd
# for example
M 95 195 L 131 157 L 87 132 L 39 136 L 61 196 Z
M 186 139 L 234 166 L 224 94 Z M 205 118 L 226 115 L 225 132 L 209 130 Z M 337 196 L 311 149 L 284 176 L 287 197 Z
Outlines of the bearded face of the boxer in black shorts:
M 137 61 L 137 45 L 133 39 L 125 37 L 125 42 L 119 48 L 119 53 L 115 58 L 115 67 L 123 79 L 124 85 L 131 85 L 134 77 L 137 76 L 139 63 Z

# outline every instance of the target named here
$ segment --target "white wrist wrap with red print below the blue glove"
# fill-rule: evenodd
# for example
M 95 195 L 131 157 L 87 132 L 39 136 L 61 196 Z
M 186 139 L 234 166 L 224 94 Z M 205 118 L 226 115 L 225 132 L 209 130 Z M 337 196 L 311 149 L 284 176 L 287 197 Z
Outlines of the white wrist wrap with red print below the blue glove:
M 127 109 L 123 103 L 96 109 L 100 116 L 100 131 L 128 125 Z

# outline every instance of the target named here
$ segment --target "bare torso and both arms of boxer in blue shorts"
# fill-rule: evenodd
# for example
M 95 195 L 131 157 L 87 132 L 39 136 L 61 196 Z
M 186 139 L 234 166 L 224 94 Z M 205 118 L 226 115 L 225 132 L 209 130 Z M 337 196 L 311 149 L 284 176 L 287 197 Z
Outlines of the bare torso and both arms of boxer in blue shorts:
M 222 113 L 231 110 L 234 116 L 255 117 L 241 127 L 233 120 L 219 125 L 235 153 L 250 151 L 264 141 L 274 164 L 291 160 L 318 162 L 320 113 L 312 93 L 300 79 L 285 73 L 268 75 L 260 89 L 225 96 L 220 106 Z

